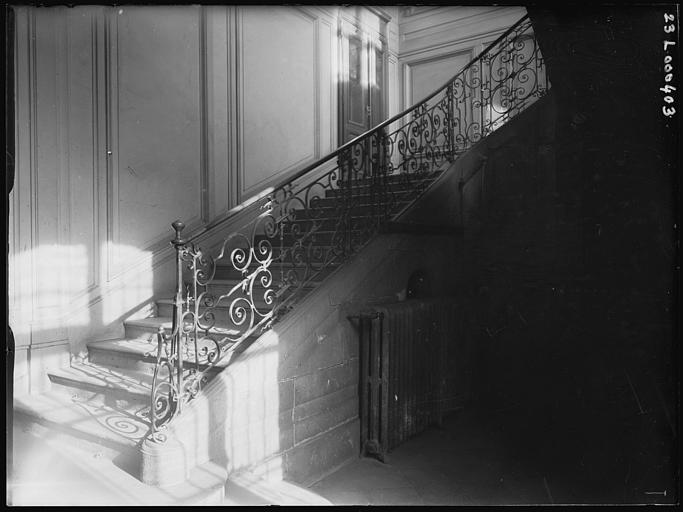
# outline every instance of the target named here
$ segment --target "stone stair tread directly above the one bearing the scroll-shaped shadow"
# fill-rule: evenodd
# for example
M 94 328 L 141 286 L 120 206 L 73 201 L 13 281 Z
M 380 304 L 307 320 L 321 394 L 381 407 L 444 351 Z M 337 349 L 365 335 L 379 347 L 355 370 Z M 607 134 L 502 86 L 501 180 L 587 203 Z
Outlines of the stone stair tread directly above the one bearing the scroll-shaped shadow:
M 72 363 L 70 367 L 50 371 L 49 375 L 89 387 L 125 391 L 145 397 L 149 397 L 152 389 L 152 375 L 149 373 L 93 362 Z

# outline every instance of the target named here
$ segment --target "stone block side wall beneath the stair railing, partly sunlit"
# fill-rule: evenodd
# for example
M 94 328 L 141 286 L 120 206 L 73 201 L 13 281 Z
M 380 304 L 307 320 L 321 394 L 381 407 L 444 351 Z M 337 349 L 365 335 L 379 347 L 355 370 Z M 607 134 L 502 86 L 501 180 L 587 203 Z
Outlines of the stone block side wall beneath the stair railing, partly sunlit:
M 168 426 L 166 443 L 143 443 L 143 481 L 169 485 L 214 461 L 228 474 L 310 485 L 358 457 L 358 340 L 345 304 L 396 300 L 418 268 L 434 275 L 435 295 L 453 293 L 458 239 L 376 236 L 232 356 Z

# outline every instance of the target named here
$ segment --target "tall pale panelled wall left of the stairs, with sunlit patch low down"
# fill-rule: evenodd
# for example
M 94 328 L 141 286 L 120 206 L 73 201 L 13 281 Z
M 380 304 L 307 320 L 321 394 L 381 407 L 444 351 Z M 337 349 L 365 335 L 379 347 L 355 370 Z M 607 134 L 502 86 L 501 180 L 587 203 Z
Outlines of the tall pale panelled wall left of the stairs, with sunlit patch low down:
M 186 234 L 201 229 L 337 146 L 342 14 L 368 27 L 378 17 L 336 7 L 16 8 L 17 393 L 40 391 L 47 368 L 89 340 L 121 336 L 123 319 L 148 316 L 155 297 L 171 294 L 173 220 Z M 392 114 L 396 16 L 374 25 L 390 39 Z

